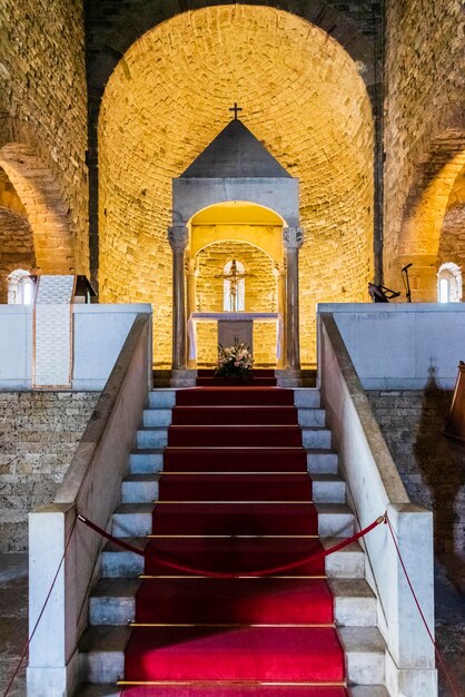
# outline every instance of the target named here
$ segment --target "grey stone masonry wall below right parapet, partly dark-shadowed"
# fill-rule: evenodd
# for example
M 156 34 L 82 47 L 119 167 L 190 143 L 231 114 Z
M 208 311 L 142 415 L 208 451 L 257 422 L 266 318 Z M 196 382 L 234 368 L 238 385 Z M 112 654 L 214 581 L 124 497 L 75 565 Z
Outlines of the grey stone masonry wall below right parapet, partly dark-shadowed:
M 367 392 L 408 495 L 434 512 L 437 553 L 465 543 L 465 451 L 442 433 L 452 392 Z

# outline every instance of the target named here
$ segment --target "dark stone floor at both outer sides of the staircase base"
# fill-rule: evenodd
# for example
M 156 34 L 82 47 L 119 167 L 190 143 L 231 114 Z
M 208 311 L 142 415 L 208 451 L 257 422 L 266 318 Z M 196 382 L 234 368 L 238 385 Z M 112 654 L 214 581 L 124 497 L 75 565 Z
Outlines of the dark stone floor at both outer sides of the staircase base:
M 446 560 L 451 569 L 451 560 Z M 458 565 L 455 580 L 459 578 Z M 462 582 L 464 581 L 462 577 Z M 458 688 L 465 695 L 465 602 L 439 561 L 435 568 L 436 639 L 443 659 Z M 0 554 L 0 696 L 18 665 L 27 638 L 27 556 Z M 8 697 L 26 697 L 26 668 L 21 667 Z M 422 697 L 418 695 L 418 697 Z M 439 671 L 439 697 L 456 697 Z

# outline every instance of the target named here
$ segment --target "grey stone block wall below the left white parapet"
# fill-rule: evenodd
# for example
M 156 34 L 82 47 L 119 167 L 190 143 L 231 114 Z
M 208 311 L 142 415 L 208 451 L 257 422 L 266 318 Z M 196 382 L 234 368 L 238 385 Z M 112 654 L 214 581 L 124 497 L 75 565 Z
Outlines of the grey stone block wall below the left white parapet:
M 52 501 L 97 392 L 0 393 L 0 551 L 28 547 L 28 512 Z

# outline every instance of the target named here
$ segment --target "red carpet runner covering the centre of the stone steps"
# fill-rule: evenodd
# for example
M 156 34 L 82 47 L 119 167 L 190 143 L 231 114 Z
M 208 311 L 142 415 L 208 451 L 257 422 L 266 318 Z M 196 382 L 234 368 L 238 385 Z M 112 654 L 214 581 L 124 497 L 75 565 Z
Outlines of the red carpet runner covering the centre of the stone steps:
M 263 386 L 273 380 L 222 387 L 204 374 L 216 386 L 177 392 L 127 697 L 347 697 L 323 557 L 273 577 L 208 578 L 321 549 L 293 392 Z

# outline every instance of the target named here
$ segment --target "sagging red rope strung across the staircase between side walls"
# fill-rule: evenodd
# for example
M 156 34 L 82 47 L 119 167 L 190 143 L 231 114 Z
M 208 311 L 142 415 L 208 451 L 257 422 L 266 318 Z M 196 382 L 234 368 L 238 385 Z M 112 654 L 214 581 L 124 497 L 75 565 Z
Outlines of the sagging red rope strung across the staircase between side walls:
M 109 540 L 110 542 L 115 542 L 115 544 L 118 544 L 122 549 L 126 549 L 130 552 L 139 554 L 139 557 L 147 556 L 144 550 L 140 550 L 137 547 L 133 547 L 132 544 L 128 544 L 128 542 L 125 542 L 123 540 L 120 540 L 119 538 L 113 537 L 112 534 L 110 534 L 106 530 L 102 530 L 102 528 L 99 528 L 98 526 L 96 526 L 96 523 L 91 522 L 83 516 L 79 514 L 78 520 L 83 522 L 86 526 L 88 526 L 88 528 L 91 528 L 92 530 L 98 532 L 101 537 Z M 339 549 L 344 549 L 348 544 L 352 544 L 352 542 L 356 542 L 357 540 L 359 540 L 362 537 L 370 532 L 374 528 L 377 528 L 383 522 L 384 523 L 386 522 L 386 513 L 384 516 L 379 516 L 379 518 L 377 518 L 373 523 L 370 523 L 369 526 L 367 526 L 366 528 L 364 528 L 356 534 L 353 534 L 350 538 L 343 540 L 343 542 L 335 544 L 334 547 L 318 550 L 316 552 L 313 552 L 311 554 L 308 554 L 308 557 L 304 557 L 304 559 L 298 559 L 297 561 L 291 561 L 289 563 L 281 565 L 279 567 L 271 567 L 269 569 L 260 569 L 258 571 L 238 571 L 238 572 L 227 573 L 227 572 L 220 572 L 220 571 L 208 571 L 206 569 L 197 569 L 196 567 L 191 567 L 191 566 L 184 565 L 184 563 L 178 563 L 175 561 L 169 561 L 168 559 L 164 559 L 161 557 L 157 557 L 157 561 L 161 563 L 162 566 L 168 567 L 169 569 L 174 569 L 176 571 L 184 571 L 186 573 L 192 573 L 195 576 L 206 576 L 207 578 L 239 578 L 239 577 L 245 578 L 245 577 L 270 576 L 274 573 L 281 573 L 283 571 L 290 571 L 291 569 L 301 567 L 308 561 L 313 561 L 314 559 L 318 559 L 319 557 L 328 557 L 329 554 L 337 552 Z

